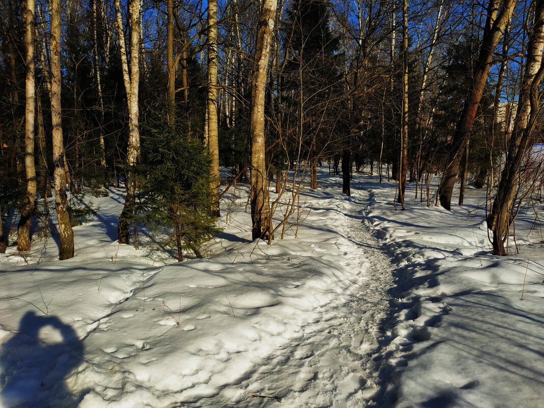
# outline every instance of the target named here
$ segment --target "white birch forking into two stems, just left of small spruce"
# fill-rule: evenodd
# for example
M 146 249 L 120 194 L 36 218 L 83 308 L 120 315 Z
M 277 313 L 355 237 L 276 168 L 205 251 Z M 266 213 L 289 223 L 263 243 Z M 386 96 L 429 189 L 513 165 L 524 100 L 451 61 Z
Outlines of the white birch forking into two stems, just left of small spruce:
M 126 191 L 127 198 L 125 206 L 119 216 L 118 236 L 119 243 L 130 243 L 131 230 L 130 224 L 134 226 L 134 247 L 138 248 L 138 229 L 136 221 L 133 221 L 134 203 L 136 197 L 136 180 L 134 178 L 133 166 L 139 161 L 140 151 L 140 130 L 139 130 L 139 107 L 138 95 L 140 85 L 140 1 L 130 0 L 128 7 L 128 24 L 131 31 L 130 40 L 130 71 L 128 70 L 128 57 L 125 45 L 125 33 L 123 32 L 123 20 L 121 15 L 120 0 L 115 0 L 115 11 L 117 32 L 119 36 L 119 48 L 121 51 L 121 65 L 123 71 L 123 82 L 125 82 L 125 90 L 128 103 L 128 154 L 126 172 Z

